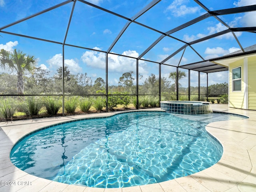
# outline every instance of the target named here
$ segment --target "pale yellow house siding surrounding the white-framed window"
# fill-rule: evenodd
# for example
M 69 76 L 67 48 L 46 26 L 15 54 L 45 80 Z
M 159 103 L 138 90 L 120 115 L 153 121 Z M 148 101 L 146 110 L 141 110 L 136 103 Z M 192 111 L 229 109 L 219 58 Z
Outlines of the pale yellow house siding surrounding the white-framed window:
M 241 66 L 242 91 L 232 92 L 232 69 Z M 238 60 L 229 64 L 229 106 L 234 108 L 244 108 L 244 60 Z

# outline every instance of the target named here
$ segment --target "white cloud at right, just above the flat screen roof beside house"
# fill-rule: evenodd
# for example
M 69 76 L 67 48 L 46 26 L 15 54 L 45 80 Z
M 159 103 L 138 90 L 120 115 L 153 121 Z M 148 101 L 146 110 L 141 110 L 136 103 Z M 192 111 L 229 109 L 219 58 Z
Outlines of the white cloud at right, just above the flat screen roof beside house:
M 204 51 L 204 53 L 207 54 L 205 59 L 220 57 L 238 50 L 240 50 L 240 48 L 232 47 L 232 48 L 229 48 L 228 50 L 225 50 L 222 47 L 216 47 L 216 48 L 207 47 L 206 50 Z

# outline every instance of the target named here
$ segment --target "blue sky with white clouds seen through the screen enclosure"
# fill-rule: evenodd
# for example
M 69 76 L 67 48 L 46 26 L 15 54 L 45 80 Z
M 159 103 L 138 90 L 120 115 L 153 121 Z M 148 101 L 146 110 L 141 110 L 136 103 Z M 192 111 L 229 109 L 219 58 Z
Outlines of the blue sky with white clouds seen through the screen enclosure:
M 0 28 L 62 2 L 64 0 L 0 0 Z M 150 3 L 149 0 L 88 0 L 88 2 L 127 18 L 132 18 Z M 210 10 L 255 4 L 255 0 L 201 0 L 201 2 Z M 63 43 L 72 6 L 73 2 L 70 2 L 29 20 L 4 28 L 2 31 Z M 162 0 L 142 16 L 136 18 L 135 21 L 155 28 L 160 32 L 168 32 L 205 13 L 206 11 L 192 0 Z M 220 16 L 220 19 L 231 27 L 256 26 L 256 12 L 223 15 Z M 88 6 L 82 2 L 76 2 L 65 42 L 66 44 L 82 46 L 93 50 L 64 46 L 64 63 L 68 66 L 70 72 L 72 74 L 86 72 L 88 76 L 92 77 L 93 81 L 98 77 L 102 77 L 105 80 L 106 54 L 100 51 L 107 51 L 109 48 L 111 48 L 110 54 L 108 54 L 108 82 L 110 85 L 118 84 L 119 78 L 124 72 L 135 72 L 136 59 L 134 58 L 140 56 L 161 34 L 136 23 L 131 23 L 116 44 L 111 47 L 111 44 L 126 24 L 127 20 L 123 18 Z M 218 20 L 210 17 L 174 32 L 171 36 L 185 42 L 192 42 L 226 29 Z M 235 34 L 244 48 L 255 44 L 253 41 L 253 39 L 256 39 L 255 34 L 248 32 L 235 32 Z M 161 62 L 184 45 L 183 42 L 177 41 L 174 38 L 164 37 L 142 58 Z M 50 74 L 56 73 L 57 68 L 62 66 L 63 52 L 61 44 L 0 32 L 0 49 L 2 48 L 8 51 L 16 48 L 27 54 L 34 55 L 38 61 L 37 66 L 49 70 Z M 206 60 L 240 50 L 237 41 L 231 33 L 194 44 L 193 48 Z M 177 66 L 180 62 L 180 66 L 182 66 L 202 60 L 189 47 L 186 48 L 180 60 L 182 52 L 166 61 L 166 64 Z M 158 64 L 154 62 L 140 60 L 140 84 L 150 74 L 155 74 L 158 77 Z M 175 70 L 174 67 L 164 65 L 161 74 L 167 78 L 169 72 Z M 188 74 L 188 70 L 183 71 Z M 5 71 L 0 69 L 0 72 Z M 204 82 L 206 82 L 206 75 L 201 73 L 201 84 L 205 84 Z M 209 74 L 209 85 L 223 82 L 228 82 L 227 71 Z M 181 80 L 180 83 L 188 86 L 186 78 Z M 191 86 L 197 85 L 198 73 L 192 71 Z

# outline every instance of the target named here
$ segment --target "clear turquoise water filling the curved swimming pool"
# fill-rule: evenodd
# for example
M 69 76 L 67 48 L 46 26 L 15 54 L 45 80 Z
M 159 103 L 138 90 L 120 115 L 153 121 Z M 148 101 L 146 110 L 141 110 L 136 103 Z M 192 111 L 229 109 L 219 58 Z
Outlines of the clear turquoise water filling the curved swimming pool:
M 99 188 L 152 184 L 218 162 L 222 146 L 205 126 L 234 118 L 241 117 L 132 112 L 83 120 L 24 138 L 10 158 L 29 174 L 67 184 Z

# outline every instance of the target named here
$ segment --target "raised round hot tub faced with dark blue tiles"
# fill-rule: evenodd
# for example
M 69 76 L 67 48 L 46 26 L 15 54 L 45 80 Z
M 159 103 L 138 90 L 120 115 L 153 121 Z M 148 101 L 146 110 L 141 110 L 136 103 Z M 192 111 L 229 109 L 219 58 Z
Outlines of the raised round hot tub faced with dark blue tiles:
M 209 114 L 212 113 L 210 102 L 204 101 L 161 101 L 162 110 L 175 114 Z

